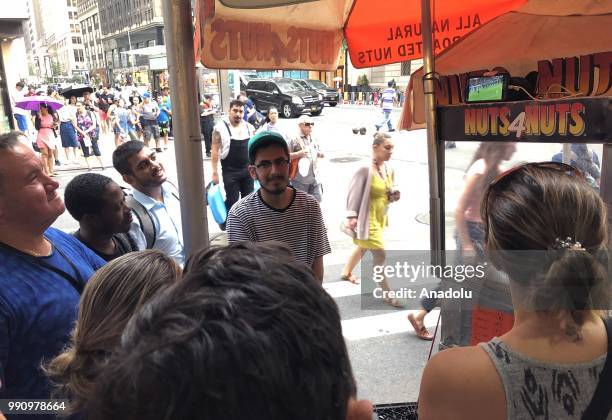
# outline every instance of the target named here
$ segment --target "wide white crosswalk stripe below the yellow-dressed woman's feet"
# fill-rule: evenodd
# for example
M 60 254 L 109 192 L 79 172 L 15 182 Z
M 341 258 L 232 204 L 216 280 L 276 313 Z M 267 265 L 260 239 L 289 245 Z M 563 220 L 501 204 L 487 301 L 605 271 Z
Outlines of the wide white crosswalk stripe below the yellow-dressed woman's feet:
M 364 340 L 390 334 L 414 334 L 406 316 L 411 311 L 396 311 L 342 321 L 342 335 L 348 341 Z M 425 326 L 433 334 L 440 311 L 435 309 L 425 317 Z M 438 331 L 439 333 L 440 331 Z

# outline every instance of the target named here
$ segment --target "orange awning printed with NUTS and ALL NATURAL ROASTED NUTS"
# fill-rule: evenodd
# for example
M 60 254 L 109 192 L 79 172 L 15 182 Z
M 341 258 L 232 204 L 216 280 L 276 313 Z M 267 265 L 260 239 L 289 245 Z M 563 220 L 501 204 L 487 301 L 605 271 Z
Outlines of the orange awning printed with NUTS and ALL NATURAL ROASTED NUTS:
M 435 51 L 525 1 L 433 1 Z M 209 68 L 335 70 L 343 38 L 358 68 L 423 55 L 420 0 L 199 0 L 197 6 L 196 54 Z

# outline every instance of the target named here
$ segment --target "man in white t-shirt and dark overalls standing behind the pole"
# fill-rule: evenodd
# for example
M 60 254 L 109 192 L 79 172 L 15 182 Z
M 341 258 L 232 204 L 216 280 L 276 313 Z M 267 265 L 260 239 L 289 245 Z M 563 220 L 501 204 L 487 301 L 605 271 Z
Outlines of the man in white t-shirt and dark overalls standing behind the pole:
M 225 207 L 229 212 L 240 197 L 253 192 L 253 179 L 249 175 L 249 139 L 254 127 L 244 121 L 244 103 L 230 102 L 229 117 L 215 125 L 212 138 L 211 162 L 212 182 L 219 183 L 219 160 L 225 188 Z M 225 230 L 225 224 L 221 225 Z

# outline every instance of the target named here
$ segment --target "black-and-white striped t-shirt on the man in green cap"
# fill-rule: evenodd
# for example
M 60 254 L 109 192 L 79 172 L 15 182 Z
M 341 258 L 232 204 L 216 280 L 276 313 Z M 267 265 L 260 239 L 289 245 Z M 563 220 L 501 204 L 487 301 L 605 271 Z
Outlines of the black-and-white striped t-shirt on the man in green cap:
M 227 217 L 229 242 L 279 241 L 293 251 L 295 259 L 309 267 L 314 260 L 331 252 L 321 208 L 317 200 L 293 187 L 287 208 L 274 209 L 256 191 L 238 201 Z

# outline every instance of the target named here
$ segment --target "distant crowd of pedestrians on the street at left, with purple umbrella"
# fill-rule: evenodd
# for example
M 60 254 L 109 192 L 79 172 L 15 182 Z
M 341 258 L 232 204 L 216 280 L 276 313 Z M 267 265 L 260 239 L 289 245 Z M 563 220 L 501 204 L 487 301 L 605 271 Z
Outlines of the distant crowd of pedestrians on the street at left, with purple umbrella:
M 167 150 L 172 130 L 169 89 L 162 88 L 155 97 L 140 91 L 132 85 L 114 89 L 100 85 L 95 92 L 82 87 L 60 95 L 49 87 L 36 95 L 31 87 L 26 93 L 24 83 L 18 82 L 11 102 L 17 128 L 31 138 L 28 144 L 40 153 L 45 173 L 56 176 L 56 167 L 62 164 L 92 169 L 90 157 L 103 169 L 100 142 L 106 134 L 113 135 L 115 147 L 140 140 L 158 153 Z M 28 98 L 32 98 L 28 110 L 16 105 Z

